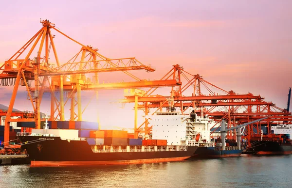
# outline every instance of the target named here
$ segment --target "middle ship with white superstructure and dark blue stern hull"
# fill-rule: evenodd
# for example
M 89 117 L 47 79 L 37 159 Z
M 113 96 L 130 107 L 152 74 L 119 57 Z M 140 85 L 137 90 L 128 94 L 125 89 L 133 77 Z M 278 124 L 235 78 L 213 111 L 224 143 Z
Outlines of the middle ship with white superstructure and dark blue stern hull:
M 207 115 L 203 116 L 202 112 L 201 116 L 194 110 L 190 114 L 158 112 L 147 118 L 152 125 L 153 139 L 167 139 L 168 145 L 181 143 L 198 146 L 192 158 L 238 157 L 242 153 L 237 145 L 222 147 L 219 140 L 210 138 L 210 125 L 214 122 Z

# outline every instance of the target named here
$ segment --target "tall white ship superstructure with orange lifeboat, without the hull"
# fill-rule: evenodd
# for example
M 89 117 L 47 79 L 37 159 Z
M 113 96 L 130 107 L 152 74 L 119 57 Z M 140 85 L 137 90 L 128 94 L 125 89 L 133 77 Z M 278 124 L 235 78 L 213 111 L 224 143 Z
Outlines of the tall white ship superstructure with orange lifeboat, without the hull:
M 210 146 L 211 120 L 207 116 L 157 112 L 146 118 L 152 125 L 152 139 L 167 140 L 167 145 Z

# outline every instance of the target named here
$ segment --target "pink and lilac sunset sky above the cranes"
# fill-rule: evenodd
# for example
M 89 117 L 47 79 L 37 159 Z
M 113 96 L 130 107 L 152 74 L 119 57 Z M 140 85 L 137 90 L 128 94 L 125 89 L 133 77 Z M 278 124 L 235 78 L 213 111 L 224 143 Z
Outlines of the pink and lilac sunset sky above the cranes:
M 45 4 L 18 0 L 0 4 L 5 7 L 0 12 L 0 63 L 41 28 L 40 18 L 49 19 L 106 57 L 134 56 L 156 67 L 153 73 L 136 72 L 139 78 L 159 79 L 178 63 L 227 91 L 260 94 L 286 108 L 292 87 L 292 1 L 51 0 Z M 54 34 L 59 59 L 66 62 L 79 47 Z M 7 105 L 9 89 L 0 88 L 0 92 L 8 97 L 0 103 Z M 108 95 L 104 92 L 105 98 Z M 15 108 L 23 110 L 29 104 L 20 101 Z

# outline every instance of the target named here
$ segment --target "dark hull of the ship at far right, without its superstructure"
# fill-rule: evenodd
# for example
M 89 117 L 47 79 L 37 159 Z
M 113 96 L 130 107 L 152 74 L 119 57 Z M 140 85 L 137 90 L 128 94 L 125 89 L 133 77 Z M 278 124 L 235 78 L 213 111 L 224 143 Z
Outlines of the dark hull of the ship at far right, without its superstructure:
M 292 154 L 292 144 L 276 141 L 251 141 L 251 147 L 244 152 L 253 155 L 289 155 Z

